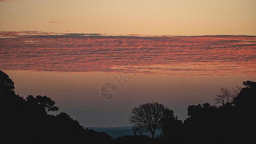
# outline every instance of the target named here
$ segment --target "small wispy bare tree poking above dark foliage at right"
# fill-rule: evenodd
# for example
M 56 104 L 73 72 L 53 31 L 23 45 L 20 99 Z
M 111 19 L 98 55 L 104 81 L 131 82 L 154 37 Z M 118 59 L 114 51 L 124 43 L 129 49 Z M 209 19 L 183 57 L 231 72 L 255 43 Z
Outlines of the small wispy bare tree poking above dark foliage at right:
M 233 96 L 227 87 L 220 88 L 220 94 L 213 98 L 216 102 L 215 104 L 221 104 L 224 106 L 227 103 L 231 103 L 233 100 Z

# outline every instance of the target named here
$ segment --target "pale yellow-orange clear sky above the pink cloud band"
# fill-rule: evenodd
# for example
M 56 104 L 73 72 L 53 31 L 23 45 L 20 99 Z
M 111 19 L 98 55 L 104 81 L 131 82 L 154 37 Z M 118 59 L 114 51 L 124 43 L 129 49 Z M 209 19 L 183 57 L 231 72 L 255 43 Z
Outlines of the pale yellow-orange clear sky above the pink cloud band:
M 0 0 L 0 30 L 256 35 L 256 0 Z

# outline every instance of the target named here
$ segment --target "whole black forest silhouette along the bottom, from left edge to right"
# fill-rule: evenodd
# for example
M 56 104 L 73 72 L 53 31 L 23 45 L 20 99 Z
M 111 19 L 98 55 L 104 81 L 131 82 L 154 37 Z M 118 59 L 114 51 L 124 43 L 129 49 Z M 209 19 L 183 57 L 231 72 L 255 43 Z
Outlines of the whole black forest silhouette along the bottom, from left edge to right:
M 221 106 L 209 103 L 189 106 L 188 118 L 184 121 L 178 120 L 171 109 L 159 104 L 162 115 L 155 129 L 162 131 L 153 136 L 154 139 L 137 134 L 143 123 L 133 125 L 134 136 L 113 139 L 105 132 L 84 129 L 64 112 L 49 115 L 49 111 L 59 110 L 54 106 L 55 101 L 47 96 L 24 98 L 15 94 L 12 79 L 0 70 L 0 143 L 250 144 L 255 142 L 256 82 L 243 84 L 240 93 Z M 158 103 L 147 105 L 158 106 Z

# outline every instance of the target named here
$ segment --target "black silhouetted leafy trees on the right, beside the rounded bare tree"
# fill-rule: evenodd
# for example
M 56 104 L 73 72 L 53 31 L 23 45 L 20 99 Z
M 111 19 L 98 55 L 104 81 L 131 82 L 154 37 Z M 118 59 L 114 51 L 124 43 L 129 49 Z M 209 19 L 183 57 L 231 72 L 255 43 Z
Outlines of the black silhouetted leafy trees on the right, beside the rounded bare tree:
M 244 88 L 222 106 L 209 103 L 187 108 L 184 122 L 166 109 L 162 119 L 163 135 L 154 144 L 252 144 L 256 130 L 256 82 L 246 81 Z

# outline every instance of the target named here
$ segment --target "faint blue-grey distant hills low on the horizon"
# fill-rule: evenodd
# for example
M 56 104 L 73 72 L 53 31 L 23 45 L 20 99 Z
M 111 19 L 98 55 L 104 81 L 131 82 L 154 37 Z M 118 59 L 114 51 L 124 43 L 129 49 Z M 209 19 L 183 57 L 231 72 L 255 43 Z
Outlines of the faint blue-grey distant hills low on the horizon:
M 84 128 L 93 129 L 94 131 L 97 131 L 97 132 L 106 132 L 114 139 L 124 135 L 134 135 L 132 127 L 110 127 L 110 128 L 84 127 Z M 159 133 L 160 131 L 156 131 L 155 135 L 158 135 Z M 139 135 L 139 133 L 137 133 L 137 135 Z M 151 137 L 150 132 L 143 132 L 143 135 L 147 135 Z

